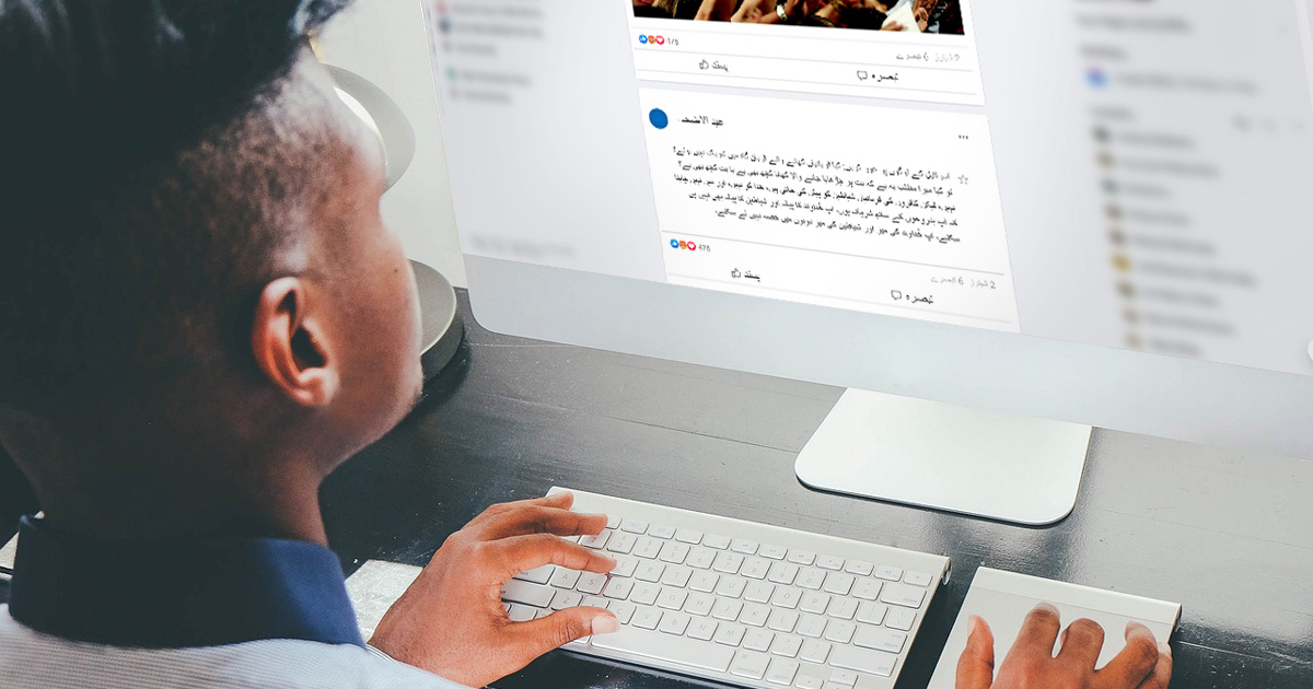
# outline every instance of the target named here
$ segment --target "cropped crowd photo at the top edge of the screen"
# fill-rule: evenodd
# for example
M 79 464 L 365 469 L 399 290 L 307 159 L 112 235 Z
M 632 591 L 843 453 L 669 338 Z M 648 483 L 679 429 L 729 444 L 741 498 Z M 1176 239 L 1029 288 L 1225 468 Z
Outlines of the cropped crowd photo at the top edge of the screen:
M 961 35 L 961 0 L 630 0 L 634 16 Z

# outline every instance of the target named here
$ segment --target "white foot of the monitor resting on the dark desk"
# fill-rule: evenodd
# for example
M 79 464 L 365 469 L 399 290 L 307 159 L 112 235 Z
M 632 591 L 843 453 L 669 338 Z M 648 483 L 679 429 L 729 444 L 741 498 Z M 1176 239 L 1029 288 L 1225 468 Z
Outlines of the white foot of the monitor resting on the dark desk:
M 1090 427 L 848 390 L 798 455 L 811 488 L 1043 526 L 1075 508 Z

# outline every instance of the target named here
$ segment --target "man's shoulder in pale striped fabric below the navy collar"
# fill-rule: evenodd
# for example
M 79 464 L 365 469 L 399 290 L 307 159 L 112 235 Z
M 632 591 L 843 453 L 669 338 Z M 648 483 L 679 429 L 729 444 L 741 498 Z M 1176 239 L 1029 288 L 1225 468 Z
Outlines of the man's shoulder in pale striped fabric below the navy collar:
M 206 648 L 118 648 L 39 634 L 14 622 L 8 606 L 0 606 L 0 667 L 3 689 L 458 689 L 357 646 L 273 639 Z

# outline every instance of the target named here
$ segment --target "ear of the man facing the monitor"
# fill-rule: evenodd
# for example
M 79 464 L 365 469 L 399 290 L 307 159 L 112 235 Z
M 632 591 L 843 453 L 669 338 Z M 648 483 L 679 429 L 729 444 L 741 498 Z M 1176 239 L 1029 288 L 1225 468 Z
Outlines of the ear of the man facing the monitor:
M 305 282 L 284 277 L 264 286 L 251 352 L 269 383 L 297 404 L 326 407 L 337 396 L 341 379 L 324 335 L 309 312 Z

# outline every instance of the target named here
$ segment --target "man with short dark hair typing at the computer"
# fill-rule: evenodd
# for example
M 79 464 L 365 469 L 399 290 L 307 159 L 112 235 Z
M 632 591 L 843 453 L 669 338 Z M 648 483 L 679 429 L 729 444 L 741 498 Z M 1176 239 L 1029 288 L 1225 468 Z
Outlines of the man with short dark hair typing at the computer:
M 498 600 L 614 566 L 561 496 L 490 508 L 358 635 L 318 490 L 421 378 L 381 151 L 305 47 L 340 4 L 0 0 L 0 444 L 45 511 L 0 686 L 478 686 L 617 629 Z

